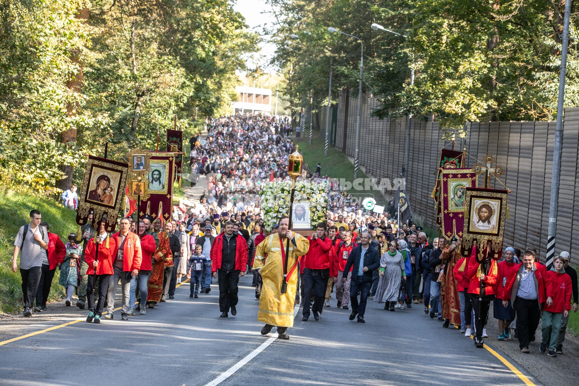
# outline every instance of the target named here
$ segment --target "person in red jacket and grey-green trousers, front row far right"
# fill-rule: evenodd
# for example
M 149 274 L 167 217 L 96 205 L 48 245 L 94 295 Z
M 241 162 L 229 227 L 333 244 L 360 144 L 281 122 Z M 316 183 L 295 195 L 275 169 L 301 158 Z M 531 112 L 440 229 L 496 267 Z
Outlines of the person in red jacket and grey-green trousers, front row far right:
M 557 347 L 557 340 L 559 339 L 559 330 L 561 329 L 561 318 L 563 315 L 567 317 L 571 309 L 571 277 L 565 273 L 563 268 L 565 260 L 561 256 L 557 256 L 553 262 L 553 267 L 547 272 L 547 276 L 551 279 L 551 288 L 553 292 L 552 304 L 543 303 L 543 325 L 541 326 L 543 339 L 541 340 L 541 347 L 539 351 L 543 354 L 547 351 L 547 344 L 549 356 L 557 356 L 555 348 Z M 552 328 L 551 340 L 549 339 L 549 328 Z

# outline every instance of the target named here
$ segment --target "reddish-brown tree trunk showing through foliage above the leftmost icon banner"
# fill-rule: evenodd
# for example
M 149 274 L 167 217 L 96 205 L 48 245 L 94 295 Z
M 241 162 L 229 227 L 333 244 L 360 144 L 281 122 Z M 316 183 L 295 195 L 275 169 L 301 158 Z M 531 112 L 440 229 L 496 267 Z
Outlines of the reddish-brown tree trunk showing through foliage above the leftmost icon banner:
M 76 14 L 76 19 L 89 20 L 89 8 L 84 6 L 80 8 Z M 74 52 L 71 56 L 71 61 L 79 64 L 78 74 L 75 76 L 71 75 L 71 78 L 67 81 L 67 87 L 73 93 L 80 93 L 82 89 L 82 63 L 80 62 L 80 52 Z M 76 115 L 76 109 L 78 105 L 67 105 L 67 114 L 69 117 Z M 72 146 L 76 142 L 76 127 L 69 128 L 66 131 L 60 133 L 60 142 Z M 66 190 L 72 185 L 72 165 L 58 165 L 58 170 L 64 173 L 64 178 L 56 181 L 54 186 L 58 189 Z

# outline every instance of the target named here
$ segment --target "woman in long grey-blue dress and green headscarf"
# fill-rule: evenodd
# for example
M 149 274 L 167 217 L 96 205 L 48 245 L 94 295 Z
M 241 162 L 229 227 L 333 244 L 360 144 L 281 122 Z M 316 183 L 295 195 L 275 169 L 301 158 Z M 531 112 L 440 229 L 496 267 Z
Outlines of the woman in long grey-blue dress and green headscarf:
M 397 241 L 391 241 L 388 251 L 384 252 L 380 259 L 380 280 L 374 297 L 374 302 L 385 302 L 384 310 L 390 311 L 394 311 L 402 278 L 406 280 L 404 258 L 402 258 L 402 253 L 397 250 L 397 247 Z

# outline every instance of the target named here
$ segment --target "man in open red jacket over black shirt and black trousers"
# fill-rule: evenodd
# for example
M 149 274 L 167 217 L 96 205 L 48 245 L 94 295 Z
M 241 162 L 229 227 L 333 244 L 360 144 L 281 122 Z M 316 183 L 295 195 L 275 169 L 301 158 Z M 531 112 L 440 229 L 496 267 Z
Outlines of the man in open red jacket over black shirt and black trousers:
M 211 271 L 219 280 L 219 311 L 222 318 L 237 314 L 239 277 L 247 270 L 247 242 L 239 233 L 233 233 L 233 223 L 225 223 L 225 231 L 215 237 L 211 247 Z

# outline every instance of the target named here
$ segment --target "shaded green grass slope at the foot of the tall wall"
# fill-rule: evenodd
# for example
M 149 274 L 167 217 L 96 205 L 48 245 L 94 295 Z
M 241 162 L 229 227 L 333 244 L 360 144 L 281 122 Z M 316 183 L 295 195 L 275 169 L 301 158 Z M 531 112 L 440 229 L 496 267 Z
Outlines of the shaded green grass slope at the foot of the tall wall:
M 309 137 L 292 138 L 292 141 L 299 145 L 299 151 L 303 154 L 303 161 L 312 172 L 316 171 L 319 162 L 323 175 L 328 175 L 330 178 L 343 178 L 349 182 L 354 181 L 354 164 L 350 162 L 344 153 L 329 146 L 328 157 L 324 157 L 324 139 L 317 137 L 314 133 L 312 145 L 310 145 L 309 140 Z M 362 170 L 358 170 L 358 178 L 367 177 Z M 355 190 L 352 188 L 348 193 L 360 198 L 360 200 L 365 197 L 374 197 L 376 204 L 387 204 L 382 194 L 376 190 Z

